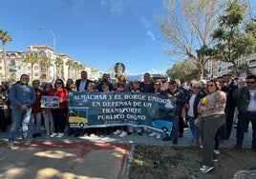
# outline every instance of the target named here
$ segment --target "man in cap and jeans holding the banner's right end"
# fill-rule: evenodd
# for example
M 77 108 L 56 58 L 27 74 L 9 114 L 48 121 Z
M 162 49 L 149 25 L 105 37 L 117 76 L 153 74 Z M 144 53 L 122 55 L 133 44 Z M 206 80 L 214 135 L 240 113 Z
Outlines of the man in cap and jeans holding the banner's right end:
M 166 135 L 162 138 L 162 141 L 168 141 L 173 139 L 173 144 L 178 144 L 179 138 L 179 118 L 181 116 L 182 108 L 186 102 L 184 92 L 178 88 L 178 83 L 175 80 L 169 82 L 169 89 L 163 91 L 163 95 L 166 95 L 169 99 L 176 104 L 173 119 L 173 129 L 170 135 Z

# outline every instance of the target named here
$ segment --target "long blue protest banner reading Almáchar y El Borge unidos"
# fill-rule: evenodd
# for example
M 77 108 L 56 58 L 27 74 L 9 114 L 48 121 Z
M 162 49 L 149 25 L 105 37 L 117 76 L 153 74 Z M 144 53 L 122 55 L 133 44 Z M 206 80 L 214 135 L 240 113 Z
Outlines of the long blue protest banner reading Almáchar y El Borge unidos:
M 71 92 L 71 128 L 133 126 L 170 132 L 175 104 L 166 96 L 136 92 Z

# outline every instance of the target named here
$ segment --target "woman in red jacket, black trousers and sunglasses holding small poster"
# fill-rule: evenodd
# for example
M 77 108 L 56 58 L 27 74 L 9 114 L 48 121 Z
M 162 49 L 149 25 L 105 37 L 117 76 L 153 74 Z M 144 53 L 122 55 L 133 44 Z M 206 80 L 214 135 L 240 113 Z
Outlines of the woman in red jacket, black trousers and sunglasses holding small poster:
M 64 82 L 61 79 L 56 79 L 54 89 L 50 89 L 49 96 L 57 96 L 59 106 L 51 109 L 53 115 L 54 132 L 51 137 L 61 138 L 64 135 L 67 115 L 67 101 L 69 98 L 68 90 L 64 87 Z

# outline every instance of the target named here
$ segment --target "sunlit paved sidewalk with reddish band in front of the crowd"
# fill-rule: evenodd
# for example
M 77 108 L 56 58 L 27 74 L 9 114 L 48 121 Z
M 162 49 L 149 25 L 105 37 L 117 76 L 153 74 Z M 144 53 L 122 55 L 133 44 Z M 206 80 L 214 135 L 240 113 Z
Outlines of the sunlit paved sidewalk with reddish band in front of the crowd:
M 236 129 L 220 145 L 233 148 L 236 144 Z M 15 142 L 14 149 L 6 149 L 8 132 L 0 133 L 0 178 L 101 178 L 122 179 L 127 177 L 127 159 L 135 145 L 172 146 L 145 132 L 120 138 L 110 136 L 64 136 L 61 139 L 45 135 L 32 139 L 30 143 Z M 244 147 L 250 148 L 251 126 L 245 133 Z M 179 146 L 189 146 L 190 129 L 184 131 Z M 3 165 L 4 164 L 4 165 Z

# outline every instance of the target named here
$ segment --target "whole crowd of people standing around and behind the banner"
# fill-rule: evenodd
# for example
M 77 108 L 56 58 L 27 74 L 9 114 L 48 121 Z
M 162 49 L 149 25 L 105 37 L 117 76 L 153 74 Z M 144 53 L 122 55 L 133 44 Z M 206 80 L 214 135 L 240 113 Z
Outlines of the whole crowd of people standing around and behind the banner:
M 244 133 L 249 122 L 252 125 L 252 148 L 256 149 L 256 75 L 248 75 L 245 79 L 233 78 L 232 74 L 224 74 L 210 81 L 192 81 L 189 85 L 179 79 L 162 81 L 151 80 L 150 73 L 143 75 L 142 81 L 127 82 L 124 75 L 117 77 L 117 83 L 108 80 L 108 74 L 103 74 L 99 82 L 87 77 L 87 71 L 81 71 L 79 79 L 68 79 L 66 85 L 62 79 L 54 83 L 40 83 L 30 76 L 22 74 L 20 80 L 11 85 L 3 81 L 0 86 L 0 129 L 5 132 L 8 125 L 8 148 L 13 147 L 13 141 L 18 129 L 21 130 L 22 140 L 46 135 L 61 138 L 65 134 L 78 137 L 98 132 L 101 134 L 125 137 L 132 133 L 161 138 L 163 142 L 179 143 L 184 128 L 191 129 L 191 146 L 203 149 L 202 172 L 214 169 L 216 155 L 220 153 L 219 140 L 229 138 L 233 124 L 236 126 L 236 149 L 242 149 Z M 130 126 L 112 129 L 74 129 L 69 128 L 68 107 L 69 95 L 76 91 L 116 91 L 116 92 L 148 92 L 164 95 L 176 104 L 173 128 L 170 134 L 164 134 L 150 129 Z M 42 95 L 57 96 L 58 107 L 42 108 Z M 42 133 L 42 127 L 46 133 Z M 145 132 L 146 130 L 146 132 Z

